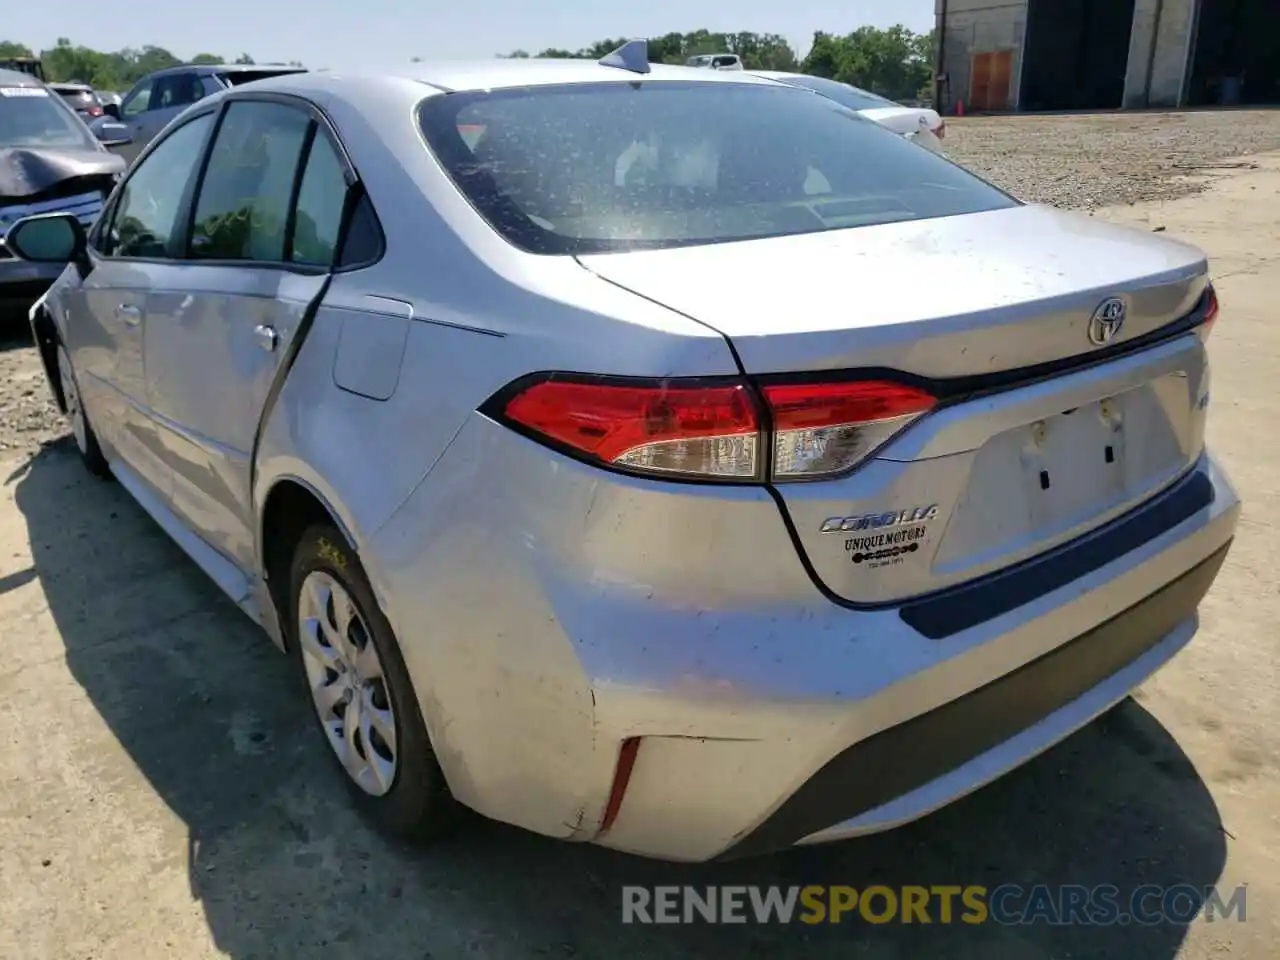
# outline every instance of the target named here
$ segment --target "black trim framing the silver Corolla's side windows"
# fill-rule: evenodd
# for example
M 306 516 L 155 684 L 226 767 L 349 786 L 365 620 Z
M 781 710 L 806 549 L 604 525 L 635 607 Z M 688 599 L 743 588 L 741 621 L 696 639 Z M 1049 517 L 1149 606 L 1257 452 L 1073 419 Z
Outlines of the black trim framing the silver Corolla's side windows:
M 221 129 L 223 118 L 227 115 L 227 110 L 232 104 L 244 102 L 244 101 L 265 101 L 265 102 L 278 102 L 283 106 L 289 106 L 296 110 L 302 110 L 306 113 L 311 120 L 311 125 L 305 136 L 302 150 L 298 152 L 298 164 L 293 173 L 293 184 L 291 187 L 289 195 L 289 214 L 288 223 L 285 227 L 285 256 L 292 251 L 293 247 L 293 225 L 297 211 L 297 197 L 302 188 L 302 177 L 306 173 L 307 160 L 311 156 L 311 147 L 315 143 L 315 138 L 323 134 L 329 145 L 333 147 L 334 154 L 338 156 L 338 161 L 342 164 L 343 179 L 347 183 L 347 196 L 343 201 L 342 223 L 338 228 L 338 242 L 334 244 L 334 260 L 329 266 L 319 266 L 315 264 L 297 264 L 288 260 L 214 260 L 214 259 L 193 259 L 191 257 L 191 229 L 196 216 L 196 201 L 200 197 L 200 189 L 205 183 L 205 173 L 209 169 L 209 160 L 212 155 L 212 145 L 216 141 L 218 132 Z M 197 101 L 202 102 L 202 101 Z M 196 105 L 192 105 L 193 108 Z M 173 248 L 182 251 L 180 256 L 172 257 L 120 257 L 110 256 L 102 253 L 97 243 L 102 237 L 102 233 L 108 229 L 108 224 L 113 223 L 115 219 L 115 211 L 119 206 L 120 197 L 124 195 L 124 188 L 128 186 L 133 175 L 141 169 L 146 159 L 160 147 L 161 143 L 168 142 L 168 140 L 174 136 L 178 131 L 183 129 L 191 123 L 195 123 L 202 116 L 210 114 L 216 114 L 212 125 L 205 134 L 205 141 L 200 147 L 200 159 L 196 164 L 195 175 L 188 180 L 182 198 L 179 200 L 178 216 L 180 224 L 174 232 L 170 239 Z M 370 215 L 374 219 L 374 224 L 378 228 L 378 252 L 376 256 L 353 261 L 349 264 L 342 262 L 343 248 L 346 246 L 347 234 L 351 228 L 351 221 L 356 214 L 356 209 L 365 204 L 369 209 Z M 133 161 L 125 178 L 116 186 L 110 200 L 108 201 L 106 209 L 102 215 L 99 216 L 97 223 L 93 224 L 93 229 L 90 233 L 88 246 L 93 256 L 97 260 L 110 260 L 131 264 L 187 264 L 198 266 L 234 266 L 234 268 L 255 268 L 255 269 L 268 269 L 268 270 L 283 270 L 288 273 L 301 274 L 306 276 L 316 276 L 328 273 L 349 273 L 352 270 L 361 270 L 367 266 L 372 266 L 383 259 L 387 251 L 387 234 L 383 230 L 381 220 L 378 216 L 378 210 L 372 206 L 372 198 L 369 196 L 369 191 L 365 189 L 364 183 L 360 179 L 360 174 L 356 172 L 356 166 L 351 160 L 351 154 L 347 151 L 338 136 L 337 128 L 329 115 L 314 101 L 306 97 L 296 96 L 292 93 L 278 93 L 274 91 L 236 91 L 234 93 L 220 95 L 215 102 L 207 106 L 200 106 L 193 110 L 189 116 L 183 118 L 183 122 L 174 127 L 172 131 L 165 131 L 163 137 L 156 137 L 151 141 L 142 154 Z

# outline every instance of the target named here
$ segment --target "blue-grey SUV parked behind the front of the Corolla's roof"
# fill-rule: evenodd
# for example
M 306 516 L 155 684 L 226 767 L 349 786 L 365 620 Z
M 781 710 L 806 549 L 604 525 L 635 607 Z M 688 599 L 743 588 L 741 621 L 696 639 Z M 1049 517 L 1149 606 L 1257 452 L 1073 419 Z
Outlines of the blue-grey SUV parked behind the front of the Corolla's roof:
M 211 93 L 269 77 L 305 73 L 303 67 L 269 64 L 188 64 L 147 74 L 106 111 L 129 128 L 129 142 L 118 152 L 134 157 L 174 116 Z

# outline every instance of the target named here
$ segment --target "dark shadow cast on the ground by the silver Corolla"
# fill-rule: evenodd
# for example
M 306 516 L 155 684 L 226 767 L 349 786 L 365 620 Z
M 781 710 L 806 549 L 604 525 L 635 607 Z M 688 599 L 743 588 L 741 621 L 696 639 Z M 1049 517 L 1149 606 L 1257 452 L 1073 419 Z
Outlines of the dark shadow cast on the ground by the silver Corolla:
M 468 823 L 406 850 L 351 812 L 292 660 L 74 448 L 14 477 L 67 663 L 188 835 L 191 896 L 232 957 L 1062 957 L 1166 960 L 1184 927 L 622 925 L 623 884 L 1140 884 L 1217 881 L 1213 801 L 1129 701 L 1005 780 L 899 831 L 675 865 Z M 132 776 L 132 773 L 131 773 Z M 732 790 L 732 785 L 726 785 Z M 128 876 L 128 872 L 124 872 Z M 146 910 L 140 904 L 138 910 Z

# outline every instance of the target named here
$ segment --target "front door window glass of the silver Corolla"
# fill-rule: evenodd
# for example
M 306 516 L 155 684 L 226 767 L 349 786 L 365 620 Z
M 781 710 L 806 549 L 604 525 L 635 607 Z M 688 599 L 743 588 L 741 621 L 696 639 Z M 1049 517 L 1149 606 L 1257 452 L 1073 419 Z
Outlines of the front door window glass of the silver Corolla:
M 184 210 L 183 197 L 196 174 L 212 125 L 205 114 L 184 123 L 133 168 L 120 187 L 111 224 L 99 238 L 99 250 L 116 257 L 177 257 L 173 248 Z

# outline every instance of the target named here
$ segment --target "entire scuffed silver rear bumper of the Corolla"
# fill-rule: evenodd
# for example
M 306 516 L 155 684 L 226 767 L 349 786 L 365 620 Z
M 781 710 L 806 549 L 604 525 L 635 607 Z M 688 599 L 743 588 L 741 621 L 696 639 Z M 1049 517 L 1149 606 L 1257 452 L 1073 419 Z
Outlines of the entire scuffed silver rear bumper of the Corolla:
M 763 492 L 602 475 L 476 419 L 362 556 L 462 803 L 701 861 L 905 823 L 1088 723 L 1194 635 L 1238 516 L 1204 456 L 1051 554 L 1070 579 L 931 637 L 782 562 Z

